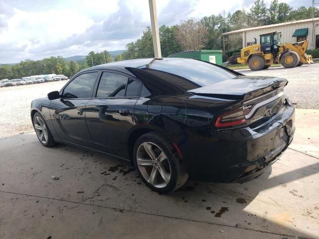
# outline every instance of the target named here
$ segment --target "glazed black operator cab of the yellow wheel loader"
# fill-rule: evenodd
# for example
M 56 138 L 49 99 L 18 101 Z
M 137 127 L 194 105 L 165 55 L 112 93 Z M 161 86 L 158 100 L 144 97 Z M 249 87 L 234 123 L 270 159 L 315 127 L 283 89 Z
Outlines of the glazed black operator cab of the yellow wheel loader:
M 280 47 L 281 32 L 275 31 L 260 35 L 261 51 L 264 54 L 277 54 Z

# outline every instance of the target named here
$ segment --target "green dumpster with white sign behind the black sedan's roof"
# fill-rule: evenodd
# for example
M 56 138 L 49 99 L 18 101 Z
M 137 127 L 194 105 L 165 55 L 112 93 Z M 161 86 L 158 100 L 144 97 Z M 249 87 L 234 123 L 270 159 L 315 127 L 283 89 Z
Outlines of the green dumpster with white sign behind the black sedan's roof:
M 198 50 L 198 51 L 182 51 L 175 54 L 171 54 L 168 57 L 192 58 L 196 60 L 211 62 L 221 66 L 223 64 L 222 56 L 223 56 L 222 50 Z

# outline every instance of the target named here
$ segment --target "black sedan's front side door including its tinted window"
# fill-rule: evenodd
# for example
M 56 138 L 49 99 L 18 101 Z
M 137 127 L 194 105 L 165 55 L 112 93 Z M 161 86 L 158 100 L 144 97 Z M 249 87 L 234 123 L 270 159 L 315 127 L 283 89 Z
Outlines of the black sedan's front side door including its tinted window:
M 84 72 L 73 78 L 50 104 L 51 119 L 60 139 L 94 148 L 85 121 L 85 106 L 92 97 L 99 71 Z

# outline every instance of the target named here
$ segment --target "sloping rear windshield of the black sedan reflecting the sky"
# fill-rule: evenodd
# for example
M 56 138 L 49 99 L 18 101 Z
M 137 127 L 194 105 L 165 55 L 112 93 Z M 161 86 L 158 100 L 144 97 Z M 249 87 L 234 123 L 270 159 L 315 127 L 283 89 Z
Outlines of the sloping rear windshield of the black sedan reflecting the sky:
M 140 68 L 146 69 L 147 66 Z M 148 65 L 148 68 L 183 77 L 201 87 L 237 77 L 235 74 L 207 62 L 186 58 L 157 61 Z

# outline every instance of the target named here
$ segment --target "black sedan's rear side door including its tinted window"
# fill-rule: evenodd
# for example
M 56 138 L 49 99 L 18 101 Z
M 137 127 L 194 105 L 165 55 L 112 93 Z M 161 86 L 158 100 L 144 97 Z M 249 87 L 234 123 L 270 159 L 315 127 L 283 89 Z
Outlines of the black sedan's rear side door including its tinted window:
M 134 108 L 142 83 L 126 74 L 103 71 L 85 109 L 89 132 L 96 148 L 128 158 L 126 137 L 134 125 Z

